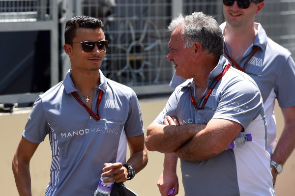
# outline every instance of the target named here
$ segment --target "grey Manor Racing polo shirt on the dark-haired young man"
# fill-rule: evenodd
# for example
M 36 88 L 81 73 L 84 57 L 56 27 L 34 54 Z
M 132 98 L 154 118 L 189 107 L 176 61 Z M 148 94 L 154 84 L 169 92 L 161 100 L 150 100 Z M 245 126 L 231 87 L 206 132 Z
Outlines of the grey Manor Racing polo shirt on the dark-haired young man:
M 49 135 L 52 149 L 50 183 L 46 196 L 93 196 L 104 163 L 126 163 L 126 137 L 144 133 L 135 92 L 105 78 L 93 94 L 96 113 L 99 91 L 100 121 L 89 118 L 87 110 L 72 96 L 76 91 L 70 71 L 34 103 L 23 137 L 40 143 Z

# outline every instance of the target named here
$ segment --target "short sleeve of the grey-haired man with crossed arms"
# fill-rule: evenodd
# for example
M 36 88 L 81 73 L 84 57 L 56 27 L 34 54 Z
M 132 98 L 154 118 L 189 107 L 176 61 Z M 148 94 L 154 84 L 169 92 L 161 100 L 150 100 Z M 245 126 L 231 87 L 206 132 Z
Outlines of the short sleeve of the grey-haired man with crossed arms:
M 251 81 L 242 80 L 221 94 L 212 118 L 232 120 L 246 129 L 259 114 L 265 117 L 260 91 Z

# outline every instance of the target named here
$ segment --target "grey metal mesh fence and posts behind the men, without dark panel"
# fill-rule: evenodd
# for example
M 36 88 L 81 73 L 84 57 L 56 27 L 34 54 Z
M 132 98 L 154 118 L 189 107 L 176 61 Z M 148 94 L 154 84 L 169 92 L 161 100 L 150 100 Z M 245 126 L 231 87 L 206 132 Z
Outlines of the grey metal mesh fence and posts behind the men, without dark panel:
M 138 95 L 160 94 L 172 91 L 168 84 L 174 73 L 173 65 L 166 60 L 170 39 L 167 26 L 179 13 L 194 11 L 213 15 L 220 24 L 224 21 L 221 0 L 0 0 L 0 32 L 51 30 L 51 85 L 54 85 L 70 67 L 68 57 L 59 50 L 65 22 L 75 15 L 99 17 L 106 26 L 106 38 L 111 40 L 101 66 L 104 74 L 132 87 Z M 295 54 L 295 0 L 266 0 L 256 21 L 270 38 Z M 55 35 L 58 24 L 60 42 Z M 3 94 L 1 86 L 9 86 L 10 78 L 21 67 L 11 66 L 17 69 L 9 71 L 0 64 L 0 76 L 6 77 L 0 80 L 0 94 Z M 0 95 L 0 102 L 2 98 Z

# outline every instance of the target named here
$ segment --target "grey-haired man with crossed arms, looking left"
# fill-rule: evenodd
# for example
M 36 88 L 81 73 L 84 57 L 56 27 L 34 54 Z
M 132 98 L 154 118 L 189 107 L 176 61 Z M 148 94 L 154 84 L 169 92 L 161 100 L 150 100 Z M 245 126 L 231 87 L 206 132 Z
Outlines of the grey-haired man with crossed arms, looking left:
M 178 193 L 177 158 L 186 196 L 274 196 L 258 86 L 222 55 L 222 31 L 211 16 L 179 15 L 168 29 L 167 60 L 188 80 L 147 128 L 148 150 L 165 153 L 161 196 Z M 243 134 L 253 140 L 228 149 Z

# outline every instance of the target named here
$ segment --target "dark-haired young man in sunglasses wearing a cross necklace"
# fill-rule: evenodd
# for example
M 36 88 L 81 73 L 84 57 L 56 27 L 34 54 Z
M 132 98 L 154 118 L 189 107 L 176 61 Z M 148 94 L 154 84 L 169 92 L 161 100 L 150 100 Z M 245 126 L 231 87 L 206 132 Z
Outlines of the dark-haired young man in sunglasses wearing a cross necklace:
M 105 182 L 125 182 L 148 162 L 135 92 L 99 69 L 109 44 L 103 23 L 77 16 L 67 21 L 64 36 L 71 69 L 35 101 L 14 155 L 21 196 L 31 195 L 29 162 L 47 135 L 52 164 L 46 196 L 93 196 L 101 176 L 111 176 Z

